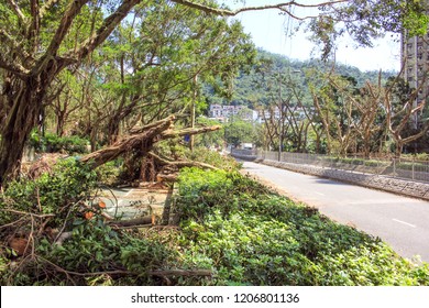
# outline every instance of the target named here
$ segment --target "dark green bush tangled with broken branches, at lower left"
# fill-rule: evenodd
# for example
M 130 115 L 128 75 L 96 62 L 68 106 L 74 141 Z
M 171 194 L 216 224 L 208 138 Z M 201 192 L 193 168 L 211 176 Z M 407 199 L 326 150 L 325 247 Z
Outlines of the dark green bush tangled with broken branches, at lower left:
M 112 230 L 94 195 L 99 176 L 68 158 L 36 179 L 9 183 L 0 197 L 1 285 L 158 284 L 147 271 L 175 252 L 156 238 Z M 29 249 L 19 254 L 11 238 Z

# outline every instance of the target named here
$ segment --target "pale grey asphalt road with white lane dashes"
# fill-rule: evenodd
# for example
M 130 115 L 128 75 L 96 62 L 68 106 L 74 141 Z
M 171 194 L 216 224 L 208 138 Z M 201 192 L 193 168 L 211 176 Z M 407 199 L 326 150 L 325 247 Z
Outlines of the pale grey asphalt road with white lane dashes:
M 399 255 L 429 262 L 429 202 L 244 162 L 245 172 L 331 219 L 380 237 Z

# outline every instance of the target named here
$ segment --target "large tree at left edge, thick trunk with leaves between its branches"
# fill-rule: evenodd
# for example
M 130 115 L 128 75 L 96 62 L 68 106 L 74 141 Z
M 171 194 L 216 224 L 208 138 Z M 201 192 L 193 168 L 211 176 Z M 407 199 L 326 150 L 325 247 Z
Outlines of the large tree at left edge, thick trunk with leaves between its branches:
M 40 120 L 55 77 L 98 47 L 138 2 L 121 1 L 100 22 L 95 21 L 102 13 L 101 7 L 90 0 L 8 0 L 1 4 L 0 184 L 19 168 L 25 141 Z M 79 37 L 76 26 L 85 16 L 94 26 Z

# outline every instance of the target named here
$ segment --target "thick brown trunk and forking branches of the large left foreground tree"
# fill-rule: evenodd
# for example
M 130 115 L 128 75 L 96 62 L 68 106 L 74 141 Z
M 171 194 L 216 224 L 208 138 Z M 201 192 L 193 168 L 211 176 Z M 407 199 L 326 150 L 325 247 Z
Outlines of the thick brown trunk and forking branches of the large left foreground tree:
M 58 51 L 65 40 L 73 21 L 80 13 L 80 9 L 89 2 L 88 0 L 75 0 L 69 3 L 62 14 L 58 28 L 54 31 L 46 51 L 42 56 L 36 55 L 40 47 L 38 21 L 44 15 L 38 13 L 38 4 L 32 8 L 33 20 L 30 36 L 24 38 L 23 44 L 33 45 L 34 48 L 29 54 L 29 58 L 34 58 L 32 63 L 19 63 L 16 58 L 0 55 L 0 68 L 8 72 L 2 79 L 2 92 L 0 95 L 0 117 L 3 122 L 1 127 L 0 141 L 0 187 L 6 179 L 16 174 L 24 144 L 28 136 L 36 123 L 40 116 L 43 99 L 53 79 L 70 64 L 78 64 L 98 47 L 116 29 L 116 26 L 127 16 L 128 12 L 141 0 L 123 0 L 118 9 L 107 16 L 101 26 L 86 40 L 81 46 L 75 48 L 63 56 Z M 16 7 L 19 10 L 19 7 Z M 16 11 L 16 10 L 15 10 Z M 22 14 L 23 19 L 26 19 Z M 36 19 L 34 19 L 36 18 Z M 2 35 L 4 36 L 4 35 Z M 25 41 L 26 40 L 26 41 Z M 10 43 L 10 41 L 9 41 Z M 11 54 L 23 54 L 25 48 L 19 44 L 12 44 Z

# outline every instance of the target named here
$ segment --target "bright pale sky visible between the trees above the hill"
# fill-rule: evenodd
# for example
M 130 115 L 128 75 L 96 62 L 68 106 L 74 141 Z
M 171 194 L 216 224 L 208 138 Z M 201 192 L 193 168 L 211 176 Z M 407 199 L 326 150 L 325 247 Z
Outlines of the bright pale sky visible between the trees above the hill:
M 222 1 L 220 1 L 222 2 Z M 223 1 L 230 8 L 243 7 L 237 1 Z M 240 1 L 239 1 L 240 2 Z M 279 0 L 246 0 L 245 6 L 262 6 L 279 3 Z M 283 1 L 285 2 L 285 1 Z M 301 0 L 301 3 L 317 2 L 316 0 Z M 306 11 L 307 12 L 307 11 Z M 295 13 L 304 13 L 296 10 Z M 316 11 L 310 12 L 316 13 Z M 292 59 L 306 61 L 318 58 L 315 45 L 308 40 L 309 33 L 298 32 L 293 36 L 286 35 L 287 29 L 295 29 L 297 21 L 287 21 L 285 15 L 280 15 L 277 10 L 249 11 L 235 16 L 244 26 L 244 32 L 251 34 L 257 47 L 265 51 L 285 55 Z M 400 50 L 399 43 L 395 42 L 391 35 L 378 40 L 373 48 L 355 47 L 351 40 L 344 38 L 339 42 L 336 53 L 338 63 L 355 66 L 361 70 L 399 70 Z

